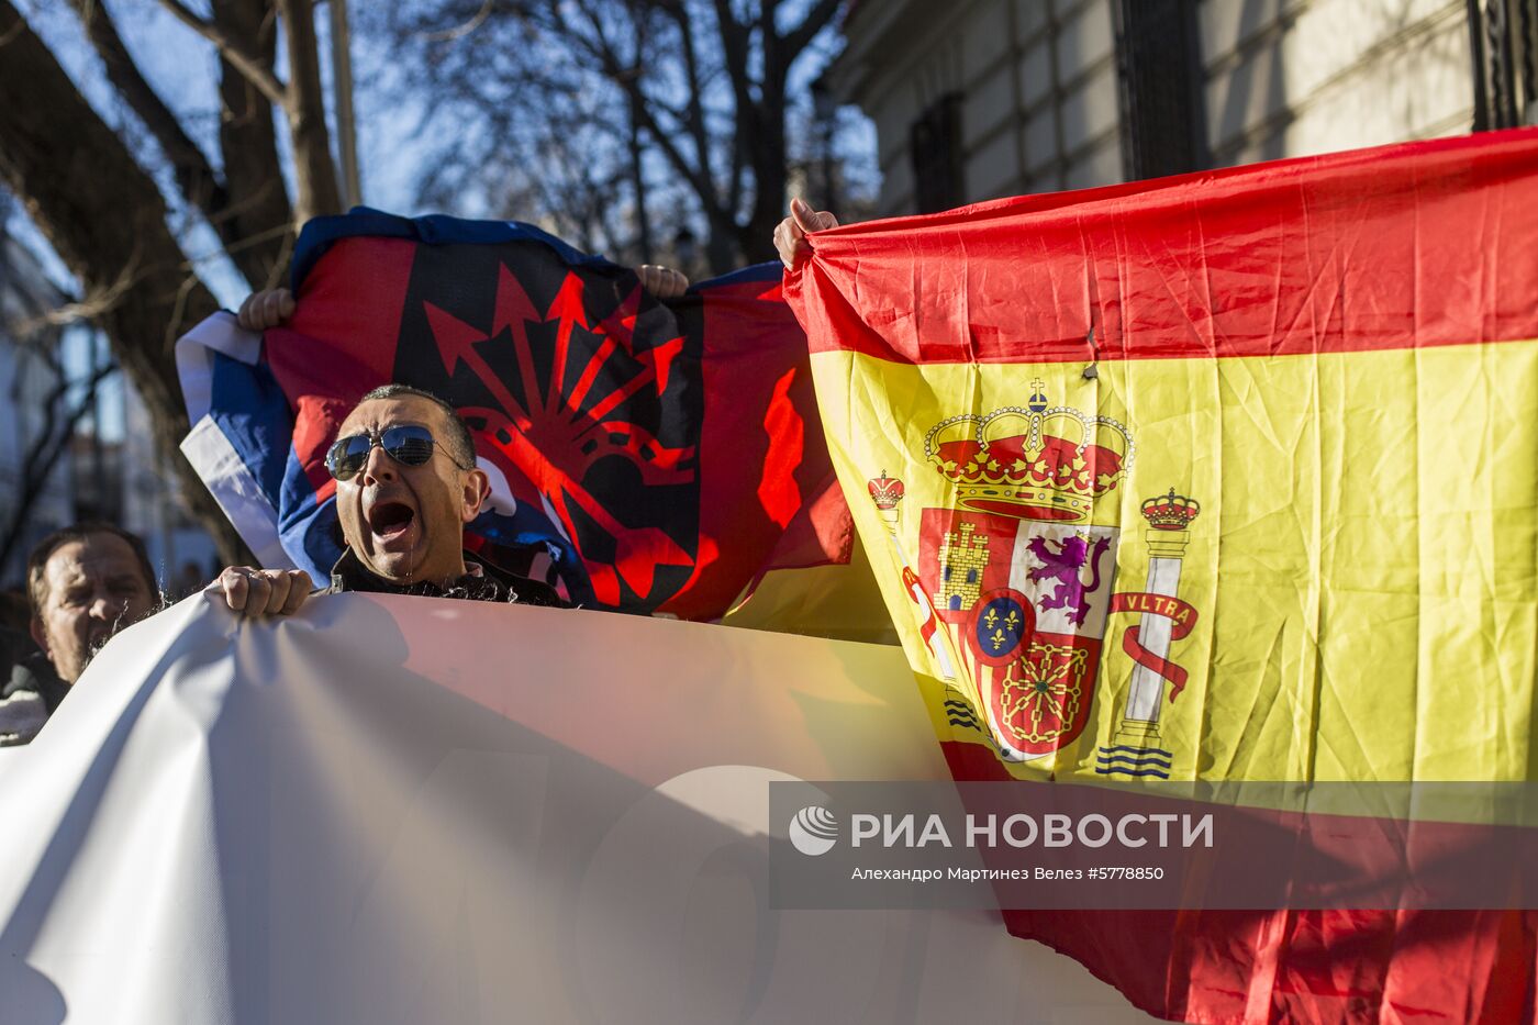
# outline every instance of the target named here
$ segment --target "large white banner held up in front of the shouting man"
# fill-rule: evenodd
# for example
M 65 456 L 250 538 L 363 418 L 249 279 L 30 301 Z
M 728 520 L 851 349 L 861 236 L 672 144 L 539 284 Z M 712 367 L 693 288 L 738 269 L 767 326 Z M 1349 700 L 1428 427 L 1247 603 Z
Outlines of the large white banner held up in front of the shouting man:
M 1149 1020 L 992 914 L 772 910 L 789 777 L 947 777 L 900 649 L 194 596 L 0 751 L 0 1020 Z

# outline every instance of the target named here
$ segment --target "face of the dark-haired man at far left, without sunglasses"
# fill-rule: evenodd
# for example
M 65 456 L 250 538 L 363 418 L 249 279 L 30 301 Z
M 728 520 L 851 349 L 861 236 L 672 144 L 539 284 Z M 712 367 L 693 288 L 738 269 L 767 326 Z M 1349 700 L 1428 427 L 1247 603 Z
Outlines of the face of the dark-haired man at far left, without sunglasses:
M 43 582 L 32 639 L 65 683 L 80 679 L 108 637 L 155 611 L 157 596 L 117 534 L 60 545 L 43 563 Z

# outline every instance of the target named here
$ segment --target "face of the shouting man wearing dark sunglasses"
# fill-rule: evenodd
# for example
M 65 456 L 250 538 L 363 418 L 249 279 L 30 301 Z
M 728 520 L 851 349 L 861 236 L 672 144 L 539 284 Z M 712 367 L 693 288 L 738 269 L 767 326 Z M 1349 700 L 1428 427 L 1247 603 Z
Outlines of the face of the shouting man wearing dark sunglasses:
M 371 399 L 354 409 L 337 437 L 378 434 L 414 423 L 438 445 L 421 466 L 397 463 L 375 445 L 363 469 L 337 482 L 337 516 L 348 548 L 392 583 L 443 585 L 464 573 L 464 525 L 480 512 L 486 474 L 460 469 L 449 451 L 448 416 L 417 396 Z

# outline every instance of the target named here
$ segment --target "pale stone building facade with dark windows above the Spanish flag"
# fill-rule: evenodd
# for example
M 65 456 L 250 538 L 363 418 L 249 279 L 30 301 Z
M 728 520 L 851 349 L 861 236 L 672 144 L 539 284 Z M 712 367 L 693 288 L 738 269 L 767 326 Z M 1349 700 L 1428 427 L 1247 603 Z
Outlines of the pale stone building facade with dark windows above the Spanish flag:
M 1520 123 L 1538 0 L 858 0 L 897 215 Z

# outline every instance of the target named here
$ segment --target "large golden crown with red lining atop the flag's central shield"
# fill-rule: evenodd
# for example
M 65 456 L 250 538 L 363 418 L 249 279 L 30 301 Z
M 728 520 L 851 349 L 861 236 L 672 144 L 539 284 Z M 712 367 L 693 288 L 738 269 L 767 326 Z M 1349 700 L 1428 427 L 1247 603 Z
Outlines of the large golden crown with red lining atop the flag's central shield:
M 1030 382 L 1024 406 L 943 420 L 924 456 L 957 485 L 957 503 L 1023 520 L 1087 520 L 1132 466 L 1132 432 L 1110 417 L 1049 406 Z

